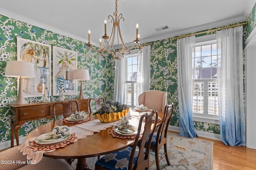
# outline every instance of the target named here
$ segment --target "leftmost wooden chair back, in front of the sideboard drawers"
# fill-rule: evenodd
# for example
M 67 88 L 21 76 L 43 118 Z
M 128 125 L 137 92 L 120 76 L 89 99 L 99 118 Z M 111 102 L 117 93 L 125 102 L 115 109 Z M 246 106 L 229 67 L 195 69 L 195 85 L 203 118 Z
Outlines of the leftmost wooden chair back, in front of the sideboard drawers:
M 64 118 L 70 116 L 75 111 L 80 111 L 78 101 L 68 100 L 63 102 L 55 102 L 52 105 L 53 119 L 56 120 L 56 113 L 62 113 Z

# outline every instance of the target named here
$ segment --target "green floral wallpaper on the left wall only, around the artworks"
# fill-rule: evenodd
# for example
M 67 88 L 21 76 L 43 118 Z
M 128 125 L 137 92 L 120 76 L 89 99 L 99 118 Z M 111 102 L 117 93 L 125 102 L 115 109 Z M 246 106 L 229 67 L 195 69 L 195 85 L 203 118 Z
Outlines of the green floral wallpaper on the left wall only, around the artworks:
M 44 28 L 36 27 L 6 16 L 0 15 L 0 141 L 10 140 L 10 108 L 8 104 L 17 97 L 16 78 L 5 77 L 6 61 L 17 60 L 17 38 L 21 37 L 51 46 L 70 49 L 78 52 L 78 68 L 88 69 L 90 81 L 83 82 L 86 98 L 113 98 L 114 62 L 100 56 L 95 51 L 88 51 L 86 43 L 60 35 Z M 78 83 L 78 91 L 80 83 Z M 76 96 L 67 96 L 75 98 Z M 58 96 L 52 96 L 53 100 Z M 26 98 L 27 101 L 39 101 L 40 98 Z M 38 119 L 28 121 L 19 130 L 20 137 L 26 136 L 32 129 L 52 121 L 52 119 Z

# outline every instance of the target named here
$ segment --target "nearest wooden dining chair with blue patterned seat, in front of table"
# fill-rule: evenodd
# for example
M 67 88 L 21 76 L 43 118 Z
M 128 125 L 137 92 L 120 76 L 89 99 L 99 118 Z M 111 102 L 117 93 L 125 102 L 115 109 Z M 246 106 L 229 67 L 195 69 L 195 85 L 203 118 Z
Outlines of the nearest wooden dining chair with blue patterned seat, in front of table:
M 149 170 L 149 151 L 151 143 L 149 142 L 146 145 L 146 142 L 152 140 L 153 133 L 151 133 L 151 131 L 154 131 L 154 129 L 156 128 L 157 121 L 154 121 L 154 126 L 152 128 L 152 118 L 154 115 L 157 119 L 157 111 L 152 111 L 149 114 L 145 113 L 141 115 L 137 135 L 133 146 L 119 150 L 117 152 L 113 152 L 111 154 L 106 154 L 96 162 L 95 170 Z M 144 128 L 142 128 L 142 126 L 144 126 Z M 141 130 L 143 131 L 142 136 Z M 140 145 L 138 145 L 138 142 L 140 142 Z M 146 149 L 144 151 L 143 146 L 145 145 Z

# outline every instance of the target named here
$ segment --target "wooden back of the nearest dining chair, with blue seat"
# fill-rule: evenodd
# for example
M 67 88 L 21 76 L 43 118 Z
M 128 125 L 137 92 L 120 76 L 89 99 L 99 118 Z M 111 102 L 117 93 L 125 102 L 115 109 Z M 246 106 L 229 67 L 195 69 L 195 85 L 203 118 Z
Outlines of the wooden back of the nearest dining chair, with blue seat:
M 154 115 L 156 116 L 156 119 L 157 119 L 158 118 L 157 111 L 152 111 L 149 114 L 145 113 L 140 117 L 140 122 L 138 125 L 138 132 L 137 132 L 137 135 L 136 135 L 133 147 L 132 147 L 132 152 L 130 154 L 128 170 L 132 170 L 132 169 L 142 170 L 145 168 L 149 169 L 149 151 L 150 151 L 151 140 L 153 137 L 153 133 L 151 133 L 151 131 L 153 132 L 155 130 L 156 122 L 157 122 L 157 121 L 154 121 L 154 126 L 152 128 L 152 118 Z M 143 119 L 145 120 L 145 122 L 143 121 Z M 143 131 L 142 137 L 140 137 L 142 125 L 144 126 L 144 131 Z M 149 136 L 149 138 L 148 138 L 148 136 Z M 150 142 L 148 142 L 148 141 L 150 141 Z M 138 145 L 138 143 L 140 143 L 140 144 Z M 138 148 L 137 148 L 137 146 L 138 146 Z M 144 152 L 143 146 L 145 146 L 145 148 L 146 148 L 145 152 Z M 137 157 L 136 167 L 132 167 L 135 152 L 138 152 L 138 157 Z

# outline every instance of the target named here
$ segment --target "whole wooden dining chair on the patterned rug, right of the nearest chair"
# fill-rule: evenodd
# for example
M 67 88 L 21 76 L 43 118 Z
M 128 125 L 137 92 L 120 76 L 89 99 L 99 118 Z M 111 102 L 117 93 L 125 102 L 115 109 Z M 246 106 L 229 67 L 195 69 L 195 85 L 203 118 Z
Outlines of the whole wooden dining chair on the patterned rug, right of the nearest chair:
M 158 129 L 154 132 L 154 135 L 151 141 L 150 149 L 152 149 L 155 152 L 157 170 L 160 170 L 159 162 L 162 160 L 162 158 L 164 158 L 164 156 L 166 158 L 167 164 L 171 165 L 168 157 L 168 150 L 167 150 L 167 134 L 168 134 L 168 127 L 170 124 L 170 120 L 172 118 L 173 109 L 174 109 L 173 103 L 165 106 L 162 121 L 158 126 Z M 164 145 L 164 153 L 159 159 L 159 150 L 163 145 Z

